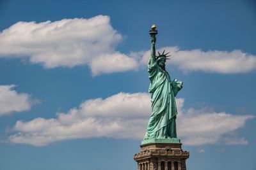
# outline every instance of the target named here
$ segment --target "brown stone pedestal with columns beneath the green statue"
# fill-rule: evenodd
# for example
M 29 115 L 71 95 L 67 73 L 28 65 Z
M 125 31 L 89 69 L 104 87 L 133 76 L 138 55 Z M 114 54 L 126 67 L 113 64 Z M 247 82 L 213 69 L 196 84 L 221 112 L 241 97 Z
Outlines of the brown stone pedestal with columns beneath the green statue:
M 134 155 L 138 170 L 186 170 L 189 152 L 181 143 L 147 143 Z

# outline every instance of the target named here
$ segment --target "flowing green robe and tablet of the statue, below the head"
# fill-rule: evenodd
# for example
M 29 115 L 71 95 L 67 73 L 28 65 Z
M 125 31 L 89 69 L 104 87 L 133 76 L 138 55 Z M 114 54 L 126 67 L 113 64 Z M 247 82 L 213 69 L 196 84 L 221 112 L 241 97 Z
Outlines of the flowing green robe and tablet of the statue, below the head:
M 175 96 L 182 88 L 182 82 L 176 79 L 172 82 L 168 72 L 161 69 L 157 60 L 149 60 L 148 73 L 150 80 L 148 92 L 152 94 L 152 114 L 144 140 L 177 138 Z

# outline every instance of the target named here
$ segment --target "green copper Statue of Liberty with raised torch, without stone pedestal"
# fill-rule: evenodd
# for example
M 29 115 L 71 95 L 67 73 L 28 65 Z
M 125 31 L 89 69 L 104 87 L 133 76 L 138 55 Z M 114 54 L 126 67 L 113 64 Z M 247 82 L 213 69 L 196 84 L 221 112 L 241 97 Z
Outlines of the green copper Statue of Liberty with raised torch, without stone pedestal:
M 168 53 L 156 55 L 156 25 L 152 25 L 151 57 L 148 61 L 148 73 L 151 93 L 152 113 L 148 122 L 147 133 L 142 144 L 152 142 L 180 143 L 176 133 L 177 107 L 175 96 L 182 89 L 182 81 L 171 80 L 165 69 Z

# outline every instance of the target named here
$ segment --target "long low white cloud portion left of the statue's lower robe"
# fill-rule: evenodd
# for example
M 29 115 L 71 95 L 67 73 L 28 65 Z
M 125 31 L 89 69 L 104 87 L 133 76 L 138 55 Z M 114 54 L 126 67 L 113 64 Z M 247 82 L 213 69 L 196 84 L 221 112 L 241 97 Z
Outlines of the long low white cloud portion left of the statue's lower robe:
M 150 112 L 148 94 L 119 93 L 106 99 L 84 101 L 57 118 L 36 118 L 18 121 L 10 136 L 13 143 L 42 146 L 53 141 L 77 138 L 136 138 L 140 139 Z

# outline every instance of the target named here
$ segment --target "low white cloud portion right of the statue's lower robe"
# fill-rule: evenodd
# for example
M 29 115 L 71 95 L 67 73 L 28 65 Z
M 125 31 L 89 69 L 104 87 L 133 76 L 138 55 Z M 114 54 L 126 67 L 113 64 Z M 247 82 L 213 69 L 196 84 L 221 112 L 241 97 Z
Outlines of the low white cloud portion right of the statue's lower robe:
M 186 145 L 220 143 L 223 134 L 234 132 L 244 126 L 252 115 L 231 115 L 190 108 L 178 119 L 178 132 Z M 237 143 L 239 144 L 239 143 Z

